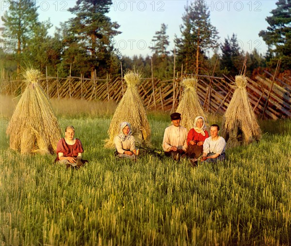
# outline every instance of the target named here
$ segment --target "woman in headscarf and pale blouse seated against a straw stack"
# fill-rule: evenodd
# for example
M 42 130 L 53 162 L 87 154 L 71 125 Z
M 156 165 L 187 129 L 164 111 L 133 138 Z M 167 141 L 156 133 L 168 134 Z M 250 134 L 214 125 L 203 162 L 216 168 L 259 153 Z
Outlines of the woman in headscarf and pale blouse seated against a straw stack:
M 116 156 L 120 158 L 136 158 L 135 139 L 131 132 L 129 122 L 120 124 L 120 133 L 114 138 Z

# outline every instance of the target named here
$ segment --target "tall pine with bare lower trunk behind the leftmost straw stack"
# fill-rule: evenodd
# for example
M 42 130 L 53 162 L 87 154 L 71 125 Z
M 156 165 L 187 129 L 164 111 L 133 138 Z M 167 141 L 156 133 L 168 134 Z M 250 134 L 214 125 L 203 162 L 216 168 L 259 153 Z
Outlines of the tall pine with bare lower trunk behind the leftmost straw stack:
M 20 72 L 22 52 L 33 35 L 33 28 L 39 25 L 34 0 L 9 0 L 9 10 L 2 16 L 2 36 L 6 43 L 16 43 L 17 74 Z

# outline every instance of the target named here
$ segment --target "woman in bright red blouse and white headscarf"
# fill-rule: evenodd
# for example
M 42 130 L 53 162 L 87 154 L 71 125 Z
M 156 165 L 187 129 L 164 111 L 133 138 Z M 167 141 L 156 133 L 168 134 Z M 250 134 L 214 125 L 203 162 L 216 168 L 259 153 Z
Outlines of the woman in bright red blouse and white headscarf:
M 196 159 L 203 152 L 203 144 L 206 138 L 209 137 L 204 117 L 197 116 L 192 128 L 187 135 L 187 151 L 186 156 Z

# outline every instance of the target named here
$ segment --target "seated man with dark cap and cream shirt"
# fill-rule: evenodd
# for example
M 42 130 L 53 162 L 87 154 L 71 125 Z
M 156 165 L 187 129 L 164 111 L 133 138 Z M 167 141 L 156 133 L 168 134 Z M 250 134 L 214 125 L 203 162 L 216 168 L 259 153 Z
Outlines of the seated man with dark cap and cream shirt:
M 181 114 L 173 113 L 170 116 L 173 125 L 165 129 L 162 148 L 165 155 L 178 161 L 181 154 L 186 151 L 188 131 L 185 127 L 180 126 Z

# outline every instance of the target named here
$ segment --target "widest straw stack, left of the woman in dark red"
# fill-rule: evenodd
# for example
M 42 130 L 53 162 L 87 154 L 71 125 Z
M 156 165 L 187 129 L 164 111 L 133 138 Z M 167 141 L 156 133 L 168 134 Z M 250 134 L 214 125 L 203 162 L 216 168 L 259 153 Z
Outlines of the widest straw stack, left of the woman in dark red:
M 27 69 L 24 73 L 26 89 L 11 117 L 7 135 L 10 148 L 26 153 L 55 153 L 61 128 L 49 99 L 39 85 L 40 71 Z

